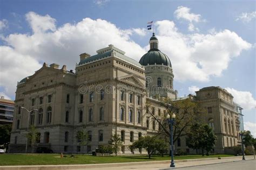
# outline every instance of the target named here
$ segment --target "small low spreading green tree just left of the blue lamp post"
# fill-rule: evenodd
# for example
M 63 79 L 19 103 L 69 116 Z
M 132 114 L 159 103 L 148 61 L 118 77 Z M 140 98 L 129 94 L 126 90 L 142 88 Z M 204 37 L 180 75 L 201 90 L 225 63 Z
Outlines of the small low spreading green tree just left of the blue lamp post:
M 154 151 L 157 150 L 157 137 L 156 136 L 145 136 L 140 137 L 139 140 L 134 141 L 134 143 L 130 146 L 130 148 L 145 148 L 147 154 L 149 155 L 149 159 L 151 159 L 151 155 Z

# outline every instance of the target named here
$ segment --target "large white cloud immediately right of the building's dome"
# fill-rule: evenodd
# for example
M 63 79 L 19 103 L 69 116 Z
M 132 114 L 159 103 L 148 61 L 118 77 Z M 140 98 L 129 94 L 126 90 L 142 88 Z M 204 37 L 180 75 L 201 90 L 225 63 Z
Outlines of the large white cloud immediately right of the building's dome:
M 156 22 L 159 48 L 171 59 L 176 80 L 209 81 L 221 76 L 230 61 L 251 48 L 235 32 L 183 34 L 170 20 Z

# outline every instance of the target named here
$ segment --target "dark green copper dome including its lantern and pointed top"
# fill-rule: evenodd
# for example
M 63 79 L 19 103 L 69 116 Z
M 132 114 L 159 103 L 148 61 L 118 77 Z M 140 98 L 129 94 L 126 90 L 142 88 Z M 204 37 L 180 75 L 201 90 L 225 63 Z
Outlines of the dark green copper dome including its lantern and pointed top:
M 139 63 L 143 66 L 163 64 L 172 67 L 169 57 L 158 49 L 158 39 L 154 36 L 154 33 L 150 38 L 150 51 L 142 56 Z

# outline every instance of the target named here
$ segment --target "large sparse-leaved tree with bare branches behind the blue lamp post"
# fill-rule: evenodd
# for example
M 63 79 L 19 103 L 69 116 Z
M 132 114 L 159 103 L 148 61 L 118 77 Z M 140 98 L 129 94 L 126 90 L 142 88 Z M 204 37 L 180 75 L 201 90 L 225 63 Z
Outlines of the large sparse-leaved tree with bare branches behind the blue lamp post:
M 173 101 L 170 98 L 162 98 L 161 105 L 166 109 L 166 114 L 176 114 L 175 123 L 173 125 L 173 143 L 175 143 L 178 138 L 187 136 L 190 132 L 190 127 L 193 124 L 203 121 L 205 110 L 199 106 L 197 101 L 192 101 L 189 98 L 180 101 Z M 170 138 L 171 133 L 169 124 L 166 121 L 166 114 L 161 115 L 161 117 L 156 116 L 150 111 L 150 103 L 146 103 L 146 113 L 150 114 L 150 116 L 158 122 L 160 126 L 159 133 Z

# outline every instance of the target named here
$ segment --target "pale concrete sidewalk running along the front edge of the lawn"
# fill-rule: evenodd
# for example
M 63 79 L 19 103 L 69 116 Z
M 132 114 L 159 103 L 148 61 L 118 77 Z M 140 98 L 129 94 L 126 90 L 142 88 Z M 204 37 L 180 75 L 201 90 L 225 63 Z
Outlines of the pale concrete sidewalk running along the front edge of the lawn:
M 246 160 L 254 159 L 253 156 L 246 156 Z M 245 161 L 246 161 L 245 160 Z M 224 162 L 244 161 L 241 156 L 238 157 L 225 157 L 225 158 L 205 158 L 205 159 L 187 159 L 176 160 L 176 168 L 191 167 L 198 165 L 220 164 Z M 256 162 L 256 159 L 255 159 Z M 55 170 L 55 169 L 93 169 L 93 170 L 119 170 L 119 169 L 166 169 L 170 168 L 170 161 L 149 161 L 149 162 L 127 162 L 117 164 L 87 164 L 87 165 L 38 165 L 38 166 L 0 166 L 0 170 L 19 170 L 19 169 L 40 169 L 40 170 Z

